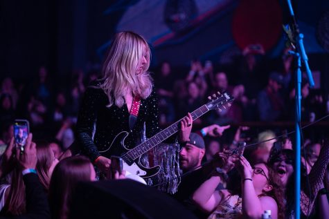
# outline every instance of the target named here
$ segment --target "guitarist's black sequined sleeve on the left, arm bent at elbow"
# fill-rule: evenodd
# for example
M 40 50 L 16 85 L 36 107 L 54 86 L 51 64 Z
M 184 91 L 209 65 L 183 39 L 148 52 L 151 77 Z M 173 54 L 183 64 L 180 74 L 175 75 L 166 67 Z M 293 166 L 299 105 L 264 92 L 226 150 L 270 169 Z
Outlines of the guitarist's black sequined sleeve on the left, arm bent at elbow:
M 100 95 L 103 90 L 95 86 L 88 86 L 85 95 L 82 98 L 78 122 L 76 127 L 76 139 L 82 152 L 87 155 L 91 161 L 96 160 L 100 153 L 93 141 L 95 124 L 97 119 L 97 110 L 100 102 Z

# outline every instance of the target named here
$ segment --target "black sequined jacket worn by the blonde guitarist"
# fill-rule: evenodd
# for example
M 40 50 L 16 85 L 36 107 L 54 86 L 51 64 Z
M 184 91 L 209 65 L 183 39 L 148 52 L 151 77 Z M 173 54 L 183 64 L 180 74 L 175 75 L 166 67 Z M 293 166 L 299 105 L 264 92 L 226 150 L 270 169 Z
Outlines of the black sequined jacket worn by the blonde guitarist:
M 92 82 L 85 91 L 80 106 L 75 139 L 91 161 L 100 156 L 99 151 L 107 149 L 114 137 L 127 131 L 130 134 L 125 139 L 127 148 L 132 148 L 141 142 L 141 133 L 145 122 L 146 137 L 152 137 L 160 131 L 158 122 L 158 101 L 153 88 L 152 93 L 146 99 L 141 99 L 139 115 L 132 131 L 129 128 L 130 113 L 127 104 L 121 108 L 110 106 L 109 99 L 102 88 L 100 81 Z M 93 140 L 94 136 L 94 140 Z M 112 146 L 112 154 L 120 155 L 121 146 Z

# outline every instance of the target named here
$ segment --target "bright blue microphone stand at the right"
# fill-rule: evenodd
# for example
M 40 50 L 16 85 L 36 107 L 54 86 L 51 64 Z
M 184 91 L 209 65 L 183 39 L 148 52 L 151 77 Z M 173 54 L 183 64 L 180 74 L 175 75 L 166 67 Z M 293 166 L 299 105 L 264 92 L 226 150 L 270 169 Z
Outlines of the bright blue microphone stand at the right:
M 296 146 L 295 146 L 295 168 L 294 168 L 294 218 L 299 219 L 301 217 L 301 64 L 304 64 L 306 73 L 308 75 L 308 82 L 310 88 L 314 87 L 314 80 L 310 67 L 308 66 L 308 56 L 305 53 L 305 48 L 303 45 L 303 34 L 299 32 L 299 26 L 294 17 L 294 11 L 292 10 L 292 4 L 290 0 L 287 0 L 290 15 L 292 17 L 292 30 L 293 37 L 296 39 L 290 39 L 296 42 L 296 51 L 290 51 L 291 55 L 296 58 L 296 72 L 295 72 L 295 128 L 296 128 Z

